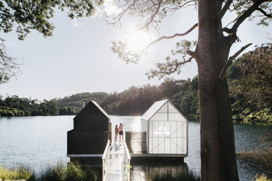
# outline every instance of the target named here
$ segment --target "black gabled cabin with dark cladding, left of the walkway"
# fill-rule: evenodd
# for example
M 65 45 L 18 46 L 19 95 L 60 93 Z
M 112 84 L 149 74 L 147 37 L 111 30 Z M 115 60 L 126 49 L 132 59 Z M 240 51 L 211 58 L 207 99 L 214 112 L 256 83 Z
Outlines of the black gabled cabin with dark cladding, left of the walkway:
M 73 130 L 67 132 L 67 156 L 102 157 L 111 140 L 111 118 L 95 102 L 90 101 L 73 118 Z

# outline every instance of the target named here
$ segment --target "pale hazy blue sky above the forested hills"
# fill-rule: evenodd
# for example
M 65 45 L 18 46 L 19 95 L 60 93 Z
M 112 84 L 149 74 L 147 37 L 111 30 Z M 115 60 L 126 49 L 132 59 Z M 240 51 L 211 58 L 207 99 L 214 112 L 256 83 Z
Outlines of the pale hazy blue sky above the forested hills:
M 102 8 L 109 13 L 116 12 L 109 5 Z M 126 64 L 111 52 L 111 42 L 124 40 L 125 33 L 135 29 L 135 21 L 125 17 L 124 29 L 119 29 L 108 25 L 101 12 L 92 17 L 71 20 L 66 12 L 59 10 L 51 21 L 56 26 L 52 37 L 44 38 L 32 31 L 21 41 L 15 31 L 8 34 L 0 32 L 10 56 L 23 61 L 20 66 L 22 74 L 6 84 L 0 84 L 1 96 L 18 95 L 43 101 L 77 93 L 120 93 L 130 86 L 159 86 L 163 80 L 148 80 L 146 72 L 155 69 L 154 62 L 163 61 L 174 49 L 175 43 L 182 39 L 161 40 L 149 47 L 148 56 L 142 57 L 137 64 Z M 186 32 L 195 23 L 195 10 L 170 14 L 161 24 L 161 35 Z M 234 44 L 230 56 L 248 43 L 261 45 L 269 42 L 265 35 L 270 30 L 269 27 L 257 27 L 255 22 L 245 22 L 238 30 L 242 42 Z M 196 40 L 197 29 L 187 38 Z M 252 50 L 253 45 L 247 51 Z M 192 60 L 181 68 L 180 75 L 172 77 L 186 80 L 195 75 L 197 67 Z

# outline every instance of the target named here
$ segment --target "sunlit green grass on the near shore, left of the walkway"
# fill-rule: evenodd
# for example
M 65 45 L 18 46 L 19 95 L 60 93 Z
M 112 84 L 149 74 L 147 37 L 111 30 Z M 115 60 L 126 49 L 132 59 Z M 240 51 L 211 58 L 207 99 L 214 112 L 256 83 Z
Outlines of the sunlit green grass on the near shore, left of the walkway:
M 58 164 L 54 167 L 48 167 L 45 171 L 35 174 L 30 169 L 23 166 L 18 169 L 10 169 L 0 166 L 0 178 L 3 181 L 19 180 L 25 181 L 97 181 L 101 180 L 98 171 L 91 166 L 84 166 L 73 162 L 63 165 Z

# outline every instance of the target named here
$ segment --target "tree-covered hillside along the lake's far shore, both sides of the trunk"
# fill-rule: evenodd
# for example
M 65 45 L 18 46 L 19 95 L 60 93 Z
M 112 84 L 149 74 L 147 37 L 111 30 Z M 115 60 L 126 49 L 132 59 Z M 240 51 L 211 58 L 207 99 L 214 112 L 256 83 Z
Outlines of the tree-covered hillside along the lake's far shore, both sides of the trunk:
M 227 72 L 234 120 L 272 122 L 271 45 L 258 47 L 235 60 Z M 159 86 L 131 86 L 122 93 L 78 93 L 38 101 L 16 95 L 0 97 L 0 115 L 71 115 L 96 101 L 108 114 L 141 116 L 155 101 L 170 99 L 185 117 L 199 116 L 198 77 L 192 80 L 166 78 Z

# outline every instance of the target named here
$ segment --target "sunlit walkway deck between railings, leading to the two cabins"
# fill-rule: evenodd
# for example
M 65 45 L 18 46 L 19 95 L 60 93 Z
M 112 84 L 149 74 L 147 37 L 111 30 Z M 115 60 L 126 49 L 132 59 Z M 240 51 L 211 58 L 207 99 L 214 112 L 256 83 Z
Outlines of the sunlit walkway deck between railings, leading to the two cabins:
M 106 171 L 106 180 L 124 181 L 124 143 L 115 142 L 111 145 L 111 156 Z

